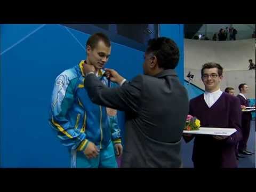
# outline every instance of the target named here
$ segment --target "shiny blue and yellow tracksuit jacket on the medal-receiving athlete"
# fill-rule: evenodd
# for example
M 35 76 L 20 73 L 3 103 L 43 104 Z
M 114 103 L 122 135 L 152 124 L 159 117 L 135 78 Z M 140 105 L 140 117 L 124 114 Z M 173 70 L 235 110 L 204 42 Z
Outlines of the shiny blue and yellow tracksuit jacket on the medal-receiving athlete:
M 89 141 L 99 149 L 107 147 L 111 141 L 121 143 L 117 116 L 108 116 L 106 107 L 92 103 L 84 89 L 83 62 L 56 78 L 50 125 L 57 130 L 62 144 L 70 149 L 82 151 Z M 98 78 L 107 85 L 108 80 L 103 73 L 99 70 Z

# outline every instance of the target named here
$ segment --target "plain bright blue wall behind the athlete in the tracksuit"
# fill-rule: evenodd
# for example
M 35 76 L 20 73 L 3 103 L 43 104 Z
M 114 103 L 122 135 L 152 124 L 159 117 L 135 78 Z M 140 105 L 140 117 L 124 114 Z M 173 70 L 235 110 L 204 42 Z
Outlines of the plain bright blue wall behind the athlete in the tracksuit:
M 53 83 L 63 70 L 85 59 L 89 34 L 62 25 L 1 27 L 1 167 L 69 167 L 69 153 L 47 123 Z M 182 36 L 181 36 L 182 34 Z M 183 25 L 161 25 L 181 50 Z M 142 73 L 143 52 L 112 43 L 108 68 L 131 79 Z M 118 113 L 122 128 L 124 114 Z

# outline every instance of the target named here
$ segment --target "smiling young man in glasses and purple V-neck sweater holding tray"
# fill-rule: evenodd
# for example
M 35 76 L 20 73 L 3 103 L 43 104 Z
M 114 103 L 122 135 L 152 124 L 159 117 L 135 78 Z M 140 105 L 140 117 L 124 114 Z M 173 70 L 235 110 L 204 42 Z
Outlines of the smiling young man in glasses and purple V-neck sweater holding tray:
M 189 115 L 196 116 L 202 127 L 235 128 L 230 136 L 184 135 L 186 142 L 195 137 L 192 160 L 195 168 L 237 167 L 237 142 L 241 140 L 241 107 L 237 97 L 220 91 L 223 68 L 218 63 L 205 63 L 201 78 L 205 93 L 191 99 Z

